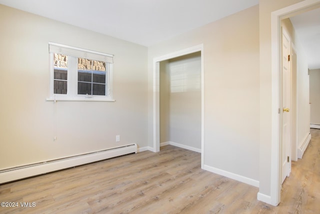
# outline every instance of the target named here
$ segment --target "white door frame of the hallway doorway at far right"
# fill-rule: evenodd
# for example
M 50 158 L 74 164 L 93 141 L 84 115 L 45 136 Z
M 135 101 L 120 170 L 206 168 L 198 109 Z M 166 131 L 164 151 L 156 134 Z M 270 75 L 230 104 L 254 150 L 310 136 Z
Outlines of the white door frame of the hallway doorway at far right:
M 300 3 L 271 13 L 271 88 L 272 88 L 272 116 L 271 116 L 271 186 L 270 201 L 272 205 L 280 202 L 281 190 L 281 148 L 280 148 L 280 114 L 278 114 L 280 96 L 280 56 L 281 56 L 281 20 L 320 7 L 319 0 L 305 0 Z

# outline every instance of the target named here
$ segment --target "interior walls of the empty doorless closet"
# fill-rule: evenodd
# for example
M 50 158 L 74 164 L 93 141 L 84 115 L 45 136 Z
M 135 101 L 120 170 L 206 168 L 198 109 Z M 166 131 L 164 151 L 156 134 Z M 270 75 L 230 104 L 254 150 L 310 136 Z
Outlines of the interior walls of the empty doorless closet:
M 201 148 L 201 53 L 160 62 L 160 143 Z

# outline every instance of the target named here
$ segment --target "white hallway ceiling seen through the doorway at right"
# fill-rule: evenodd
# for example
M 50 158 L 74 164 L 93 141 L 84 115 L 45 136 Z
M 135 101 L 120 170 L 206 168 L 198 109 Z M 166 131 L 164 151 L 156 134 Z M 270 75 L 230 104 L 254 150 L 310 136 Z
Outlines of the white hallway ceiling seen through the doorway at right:
M 320 69 L 320 8 L 290 18 L 308 61 L 309 69 Z

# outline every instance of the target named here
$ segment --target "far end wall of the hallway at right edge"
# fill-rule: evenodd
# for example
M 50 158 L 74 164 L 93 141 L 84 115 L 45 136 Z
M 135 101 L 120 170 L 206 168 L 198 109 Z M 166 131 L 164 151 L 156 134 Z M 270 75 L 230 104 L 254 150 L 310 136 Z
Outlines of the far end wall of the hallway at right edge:
M 320 125 L 320 69 L 312 69 L 310 74 L 310 123 Z

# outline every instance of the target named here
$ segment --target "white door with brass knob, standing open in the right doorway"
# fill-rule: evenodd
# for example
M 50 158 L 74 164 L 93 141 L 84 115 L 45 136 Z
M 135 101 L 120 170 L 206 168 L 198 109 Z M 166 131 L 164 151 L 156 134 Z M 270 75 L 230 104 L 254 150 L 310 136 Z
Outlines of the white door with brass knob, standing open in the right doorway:
M 291 68 L 290 38 L 282 29 L 282 67 L 281 67 L 281 183 L 290 173 L 291 158 Z

